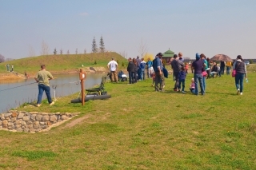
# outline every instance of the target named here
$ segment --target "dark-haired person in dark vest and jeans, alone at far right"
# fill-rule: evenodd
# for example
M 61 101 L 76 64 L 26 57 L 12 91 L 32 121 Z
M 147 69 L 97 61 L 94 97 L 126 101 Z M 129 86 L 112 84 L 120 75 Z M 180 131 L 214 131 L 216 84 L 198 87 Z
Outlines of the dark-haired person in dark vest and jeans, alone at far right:
M 238 55 L 237 60 L 234 61 L 233 69 L 236 70 L 236 74 L 234 77 L 235 86 L 237 88 L 237 94 L 240 93 L 242 95 L 243 91 L 243 78 L 247 78 L 247 72 L 246 72 L 246 63 L 242 61 L 242 56 Z

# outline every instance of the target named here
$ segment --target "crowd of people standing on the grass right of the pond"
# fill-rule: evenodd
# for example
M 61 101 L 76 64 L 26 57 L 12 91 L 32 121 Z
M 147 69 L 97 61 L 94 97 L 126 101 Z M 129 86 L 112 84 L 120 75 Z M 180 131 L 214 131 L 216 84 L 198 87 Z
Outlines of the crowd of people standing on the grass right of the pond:
M 144 58 L 129 58 L 127 72 L 129 74 L 129 85 L 137 83 L 138 81 L 145 80 L 145 75 L 147 77 L 152 77 L 152 86 L 154 90 L 158 92 L 164 91 L 165 88 L 165 77 L 168 77 L 168 72 L 165 69 L 163 64 L 162 53 L 158 53 L 154 60 L 151 61 L 148 58 L 147 61 Z M 188 73 L 189 67 L 191 68 L 191 73 L 194 74 L 194 77 L 191 79 L 190 92 L 198 95 L 206 94 L 206 79 L 210 77 L 222 77 L 224 70 L 226 68 L 226 74 L 230 75 L 231 70 L 236 70 L 234 75 L 235 87 L 237 89 L 236 93 L 242 95 L 243 91 L 243 79 L 247 78 L 246 73 L 246 64 L 242 60 L 241 55 L 238 55 L 237 59 L 233 62 L 231 61 L 220 61 L 220 64 L 217 65 L 215 61 L 210 61 L 209 57 L 206 58 L 205 54 L 196 53 L 195 61 L 192 63 L 184 63 L 182 53 L 174 54 L 174 57 L 171 58 L 170 63 L 171 68 L 173 69 L 174 77 L 174 91 L 176 92 L 185 92 L 185 82 L 186 74 Z M 112 61 L 108 63 L 108 68 L 111 72 L 111 81 L 118 82 L 117 69 L 118 63 Z M 200 89 L 199 89 L 200 88 Z

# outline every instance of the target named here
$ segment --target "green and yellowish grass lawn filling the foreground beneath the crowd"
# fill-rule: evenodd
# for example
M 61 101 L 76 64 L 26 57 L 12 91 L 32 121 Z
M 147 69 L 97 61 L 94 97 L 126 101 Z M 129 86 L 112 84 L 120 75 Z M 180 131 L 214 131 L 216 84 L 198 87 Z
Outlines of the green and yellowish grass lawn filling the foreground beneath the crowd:
M 242 96 L 227 75 L 192 95 L 191 77 L 186 94 L 172 91 L 169 77 L 162 93 L 151 79 L 106 83 L 108 100 L 70 104 L 76 93 L 19 108 L 81 114 L 49 132 L 0 131 L 0 169 L 256 169 L 256 73 Z

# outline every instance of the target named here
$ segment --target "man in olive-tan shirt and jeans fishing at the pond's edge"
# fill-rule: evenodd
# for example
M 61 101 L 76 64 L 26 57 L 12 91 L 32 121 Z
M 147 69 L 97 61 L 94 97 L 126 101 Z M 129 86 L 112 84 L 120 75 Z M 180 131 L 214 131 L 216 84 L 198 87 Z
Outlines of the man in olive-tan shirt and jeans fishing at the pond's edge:
M 50 80 L 53 79 L 53 75 L 49 71 L 46 71 L 46 65 L 41 65 L 41 70 L 38 71 L 34 80 L 38 82 L 38 102 L 37 106 L 41 106 L 42 102 L 42 93 L 46 92 L 46 97 L 49 105 L 54 105 L 54 101 L 50 97 Z

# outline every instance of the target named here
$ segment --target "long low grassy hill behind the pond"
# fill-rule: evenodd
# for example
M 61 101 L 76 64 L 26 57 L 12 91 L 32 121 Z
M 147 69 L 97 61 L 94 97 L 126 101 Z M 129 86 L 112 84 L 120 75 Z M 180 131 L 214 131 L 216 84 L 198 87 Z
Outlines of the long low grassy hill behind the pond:
M 0 63 L 0 72 L 5 73 L 5 65 L 14 65 L 14 71 L 18 73 L 36 73 L 40 69 L 40 65 L 45 64 L 49 71 L 74 71 L 84 67 L 105 67 L 107 63 L 114 57 L 119 65 L 122 62 L 126 65 L 126 58 L 115 52 L 106 53 L 86 53 L 86 54 L 56 54 L 44 55 L 38 57 L 26 57 L 12 61 Z M 96 64 L 95 64 L 96 63 Z

